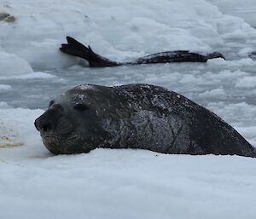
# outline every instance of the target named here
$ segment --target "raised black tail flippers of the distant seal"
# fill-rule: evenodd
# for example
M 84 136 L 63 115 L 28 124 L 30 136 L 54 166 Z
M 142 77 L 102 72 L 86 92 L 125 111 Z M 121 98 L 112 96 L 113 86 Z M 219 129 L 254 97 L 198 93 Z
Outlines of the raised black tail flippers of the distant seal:
M 88 48 L 82 43 L 79 43 L 73 37 L 67 37 L 67 44 L 61 44 L 61 52 L 67 55 L 78 56 L 89 62 L 91 67 L 103 67 L 103 66 L 119 66 L 121 65 L 115 61 L 109 61 L 107 58 L 97 55 L 92 51 L 90 46 Z

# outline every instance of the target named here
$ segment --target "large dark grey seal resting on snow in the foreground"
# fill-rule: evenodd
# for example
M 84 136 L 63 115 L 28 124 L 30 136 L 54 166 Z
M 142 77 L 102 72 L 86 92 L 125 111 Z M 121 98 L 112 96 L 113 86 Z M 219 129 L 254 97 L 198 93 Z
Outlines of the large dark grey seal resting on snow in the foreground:
M 55 154 L 104 147 L 256 157 L 255 149 L 213 112 L 148 84 L 79 85 L 50 101 L 35 126 Z

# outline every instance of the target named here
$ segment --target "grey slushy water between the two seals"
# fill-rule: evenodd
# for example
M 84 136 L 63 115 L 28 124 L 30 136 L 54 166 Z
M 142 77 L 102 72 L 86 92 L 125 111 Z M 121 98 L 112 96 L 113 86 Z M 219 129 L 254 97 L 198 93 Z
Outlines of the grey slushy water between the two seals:
M 214 63 L 216 62 L 216 63 Z M 207 107 L 210 103 L 246 102 L 256 105 L 256 89 L 242 84 L 241 79 L 256 80 L 255 66 L 224 66 L 213 63 L 168 63 L 156 65 L 89 68 L 73 66 L 67 69 L 45 71 L 55 78 L 5 79 L 13 90 L 2 95 L 11 107 L 47 108 L 48 102 L 65 90 L 78 84 L 155 84 L 185 95 Z

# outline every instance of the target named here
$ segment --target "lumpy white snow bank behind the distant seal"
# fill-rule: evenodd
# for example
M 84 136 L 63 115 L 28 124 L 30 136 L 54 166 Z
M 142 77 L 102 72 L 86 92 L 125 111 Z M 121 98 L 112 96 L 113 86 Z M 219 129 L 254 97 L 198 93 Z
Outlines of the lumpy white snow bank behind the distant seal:
M 119 61 L 172 49 L 219 50 L 232 57 L 239 49 L 252 48 L 256 30 L 241 18 L 223 14 L 213 2 L 5 2 L 0 12 L 15 19 L 0 20 L 0 51 L 4 57 L 0 59 L 0 72 L 13 69 L 9 73 L 21 74 L 31 72 L 31 67 L 42 70 L 78 63 L 58 50 L 67 35 Z M 246 7 L 252 5 L 247 1 Z M 234 41 L 240 43 L 235 45 Z M 19 63 L 11 66 L 16 60 Z

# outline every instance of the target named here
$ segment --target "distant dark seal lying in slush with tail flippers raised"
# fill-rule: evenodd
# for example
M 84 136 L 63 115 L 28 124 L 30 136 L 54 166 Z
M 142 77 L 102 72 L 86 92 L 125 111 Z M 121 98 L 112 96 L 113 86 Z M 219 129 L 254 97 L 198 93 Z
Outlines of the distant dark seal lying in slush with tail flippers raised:
M 73 37 L 67 37 L 67 44 L 61 44 L 61 52 L 67 55 L 78 56 L 89 62 L 90 67 L 122 66 L 137 64 L 154 64 L 167 62 L 206 62 L 209 59 L 223 58 L 224 55 L 213 52 L 207 55 L 201 55 L 189 52 L 188 50 L 166 51 L 147 55 L 131 62 L 110 61 L 101 55 L 97 55 L 90 46 L 86 47 L 76 41 Z

